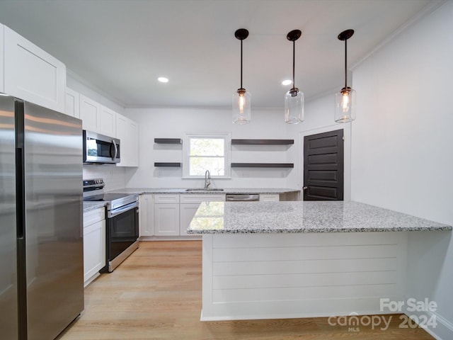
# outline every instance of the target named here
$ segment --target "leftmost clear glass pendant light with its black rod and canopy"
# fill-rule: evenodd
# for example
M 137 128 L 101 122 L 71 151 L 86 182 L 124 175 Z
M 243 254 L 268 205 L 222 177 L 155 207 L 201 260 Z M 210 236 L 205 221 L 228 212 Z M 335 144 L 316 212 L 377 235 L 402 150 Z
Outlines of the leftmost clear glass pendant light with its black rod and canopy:
M 251 121 L 251 94 L 242 87 L 242 40 L 248 37 L 248 30 L 239 28 L 234 36 L 241 40 L 241 88 L 233 94 L 233 123 L 248 124 Z

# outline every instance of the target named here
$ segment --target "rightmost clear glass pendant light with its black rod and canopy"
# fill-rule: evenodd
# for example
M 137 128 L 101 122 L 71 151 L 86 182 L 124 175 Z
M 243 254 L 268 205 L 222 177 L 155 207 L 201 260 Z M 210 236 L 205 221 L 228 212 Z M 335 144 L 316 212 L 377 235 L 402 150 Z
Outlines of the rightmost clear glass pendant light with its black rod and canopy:
M 354 30 L 344 30 L 338 35 L 338 40 L 345 42 L 345 87 L 335 95 L 335 121 L 348 123 L 355 120 L 355 90 L 348 86 L 348 39 Z

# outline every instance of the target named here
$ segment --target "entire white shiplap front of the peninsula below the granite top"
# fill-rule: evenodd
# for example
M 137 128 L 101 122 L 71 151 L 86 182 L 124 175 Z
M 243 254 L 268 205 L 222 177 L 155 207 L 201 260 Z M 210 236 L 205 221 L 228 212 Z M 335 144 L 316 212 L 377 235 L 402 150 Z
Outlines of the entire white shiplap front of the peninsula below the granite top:
M 203 235 L 202 319 L 377 314 L 406 253 L 406 232 Z

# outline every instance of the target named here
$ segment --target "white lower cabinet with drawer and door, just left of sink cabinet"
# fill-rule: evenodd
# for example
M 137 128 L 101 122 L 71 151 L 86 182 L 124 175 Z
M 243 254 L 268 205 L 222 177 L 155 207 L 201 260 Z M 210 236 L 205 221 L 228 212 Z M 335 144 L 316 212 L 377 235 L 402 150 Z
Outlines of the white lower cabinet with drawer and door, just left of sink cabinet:
M 154 195 L 154 235 L 179 236 L 179 195 Z

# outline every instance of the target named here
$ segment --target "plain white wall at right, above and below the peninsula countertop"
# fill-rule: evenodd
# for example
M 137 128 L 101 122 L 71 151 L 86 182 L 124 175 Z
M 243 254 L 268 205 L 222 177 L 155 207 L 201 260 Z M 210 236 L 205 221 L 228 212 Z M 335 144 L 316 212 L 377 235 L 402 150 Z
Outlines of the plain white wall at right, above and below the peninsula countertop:
M 453 225 L 453 1 L 354 70 L 352 200 Z M 409 237 L 408 297 L 439 305 L 453 339 L 451 232 Z

